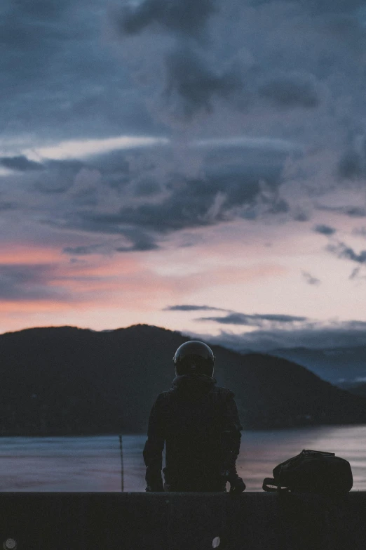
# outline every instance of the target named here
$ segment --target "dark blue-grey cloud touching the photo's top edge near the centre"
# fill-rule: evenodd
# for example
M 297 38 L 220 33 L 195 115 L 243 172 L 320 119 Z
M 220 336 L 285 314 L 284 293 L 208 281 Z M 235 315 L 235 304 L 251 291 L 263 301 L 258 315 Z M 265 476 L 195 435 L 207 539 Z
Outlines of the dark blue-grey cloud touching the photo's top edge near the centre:
M 214 12 L 214 0 L 145 0 L 137 6 L 125 6 L 118 24 L 123 34 L 137 34 L 158 24 L 170 32 L 198 37 Z

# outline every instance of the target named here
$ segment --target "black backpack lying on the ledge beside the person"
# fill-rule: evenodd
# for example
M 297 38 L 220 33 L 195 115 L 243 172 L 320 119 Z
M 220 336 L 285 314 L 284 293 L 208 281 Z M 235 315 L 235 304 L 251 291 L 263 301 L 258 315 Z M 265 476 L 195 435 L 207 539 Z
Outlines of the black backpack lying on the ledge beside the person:
M 343 495 L 353 485 L 349 462 L 334 452 L 303 450 L 273 469 L 273 478 L 265 478 L 264 491 L 313 492 Z

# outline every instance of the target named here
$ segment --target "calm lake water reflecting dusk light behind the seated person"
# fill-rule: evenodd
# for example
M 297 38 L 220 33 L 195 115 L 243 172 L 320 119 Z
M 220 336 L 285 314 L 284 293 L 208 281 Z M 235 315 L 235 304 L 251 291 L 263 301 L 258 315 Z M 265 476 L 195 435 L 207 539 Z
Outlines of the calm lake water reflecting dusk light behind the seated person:
M 146 436 L 123 436 L 123 490 L 144 491 Z M 238 473 L 261 491 L 274 466 L 302 449 L 335 452 L 351 463 L 353 490 L 366 490 L 366 426 L 243 431 Z M 1 491 L 121 491 L 118 436 L 0 438 Z

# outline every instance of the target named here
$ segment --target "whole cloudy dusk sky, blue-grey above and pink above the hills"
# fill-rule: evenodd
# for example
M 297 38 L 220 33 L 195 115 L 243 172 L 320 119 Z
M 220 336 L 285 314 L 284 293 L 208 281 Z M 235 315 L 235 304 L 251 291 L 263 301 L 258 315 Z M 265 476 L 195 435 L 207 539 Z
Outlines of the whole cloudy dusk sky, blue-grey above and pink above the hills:
M 366 343 L 366 6 L 3 0 L 0 332 Z

